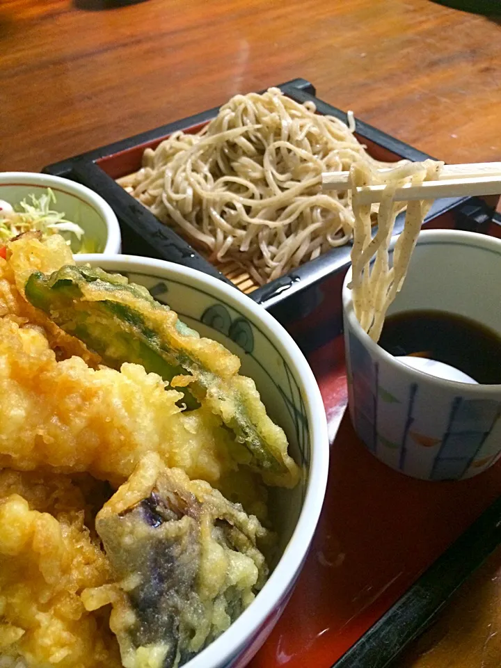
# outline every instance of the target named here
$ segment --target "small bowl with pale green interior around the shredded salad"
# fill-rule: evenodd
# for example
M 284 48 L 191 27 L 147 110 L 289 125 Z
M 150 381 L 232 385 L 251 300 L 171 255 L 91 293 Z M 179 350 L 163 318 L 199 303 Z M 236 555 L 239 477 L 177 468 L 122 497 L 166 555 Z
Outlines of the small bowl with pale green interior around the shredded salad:
M 110 205 L 94 191 L 79 183 L 58 176 L 35 172 L 1 172 L 0 200 L 17 205 L 31 194 L 40 197 L 50 188 L 56 202 L 55 211 L 84 230 L 86 239 L 93 241 L 96 253 L 120 253 L 120 225 Z M 75 249 L 73 249 L 75 250 Z

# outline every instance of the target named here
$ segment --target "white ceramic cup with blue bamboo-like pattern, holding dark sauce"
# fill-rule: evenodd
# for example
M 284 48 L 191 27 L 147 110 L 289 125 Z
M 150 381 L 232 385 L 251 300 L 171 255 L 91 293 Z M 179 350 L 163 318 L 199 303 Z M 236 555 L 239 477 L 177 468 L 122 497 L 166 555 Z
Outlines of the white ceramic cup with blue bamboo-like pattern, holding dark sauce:
M 396 239 L 392 241 L 392 247 Z M 501 385 L 431 376 L 374 343 L 343 285 L 349 411 L 358 436 L 406 475 L 459 480 L 501 455 Z M 421 232 L 389 314 L 437 310 L 468 317 L 501 335 L 501 239 L 472 232 Z

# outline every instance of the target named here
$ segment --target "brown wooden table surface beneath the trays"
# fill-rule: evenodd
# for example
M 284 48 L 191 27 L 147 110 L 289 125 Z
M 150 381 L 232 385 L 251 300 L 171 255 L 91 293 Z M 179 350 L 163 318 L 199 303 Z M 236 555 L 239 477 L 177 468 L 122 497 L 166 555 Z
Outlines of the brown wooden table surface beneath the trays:
M 0 169 L 305 77 L 449 162 L 501 160 L 501 26 L 424 0 L 3 0 Z M 402 668 L 499 668 L 501 550 Z

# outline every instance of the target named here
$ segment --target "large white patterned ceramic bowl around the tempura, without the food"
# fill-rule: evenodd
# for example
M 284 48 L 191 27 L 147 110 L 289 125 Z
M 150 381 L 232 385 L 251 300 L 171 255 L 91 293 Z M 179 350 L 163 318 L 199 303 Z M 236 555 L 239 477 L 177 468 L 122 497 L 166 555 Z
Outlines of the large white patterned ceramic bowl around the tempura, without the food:
M 260 649 L 292 594 L 319 519 L 328 472 L 328 433 L 317 381 L 292 337 L 264 308 L 238 289 L 180 265 L 130 255 L 77 255 L 144 285 L 202 336 L 241 359 L 267 411 L 289 439 L 303 468 L 292 490 L 269 488 L 273 528 L 279 536 L 273 572 L 255 601 L 230 628 L 185 668 L 243 668 Z

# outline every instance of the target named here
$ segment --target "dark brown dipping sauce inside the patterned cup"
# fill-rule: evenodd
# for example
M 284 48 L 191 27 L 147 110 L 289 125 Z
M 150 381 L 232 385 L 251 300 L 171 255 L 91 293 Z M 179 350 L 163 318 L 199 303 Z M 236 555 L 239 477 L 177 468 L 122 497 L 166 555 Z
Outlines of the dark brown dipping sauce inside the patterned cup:
M 379 339 L 393 356 L 443 362 L 483 385 L 501 384 L 501 336 L 460 315 L 406 311 L 385 319 Z

